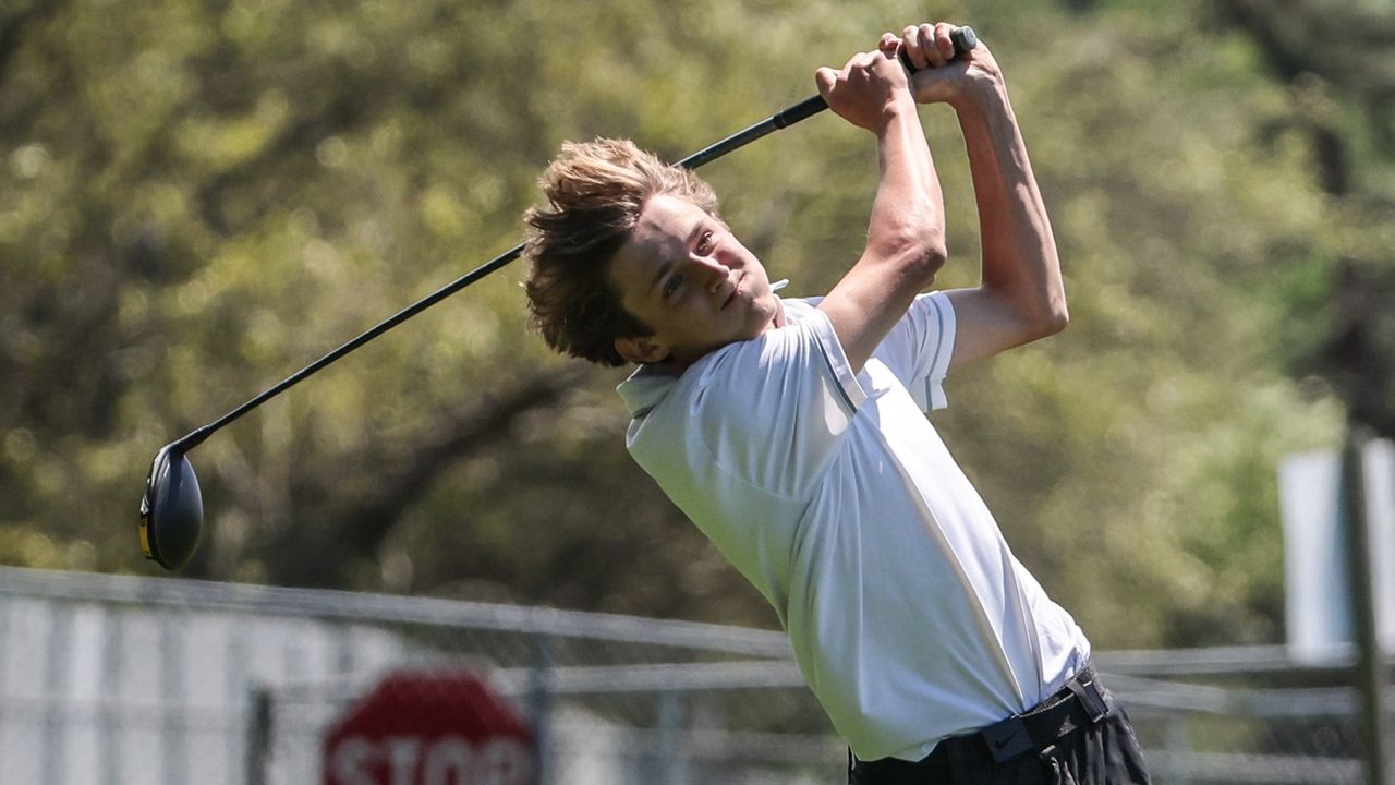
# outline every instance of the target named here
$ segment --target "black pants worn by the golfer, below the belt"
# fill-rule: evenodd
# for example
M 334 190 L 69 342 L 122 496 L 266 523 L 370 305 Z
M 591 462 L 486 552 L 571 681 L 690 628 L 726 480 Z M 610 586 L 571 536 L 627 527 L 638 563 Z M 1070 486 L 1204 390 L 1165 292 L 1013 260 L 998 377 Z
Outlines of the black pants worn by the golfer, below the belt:
M 1092 698 L 1102 701 L 1103 717 L 1080 705 L 1081 696 L 1062 690 L 1028 712 L 1052 711 L 1069 718 L 1062 735 L 1036 738 L 1007 760 L 993 760 L 992 742 L 972 735 L 942 742 L 922 761 L 854 761 L 848 768 L 850 785 L 1149 785 L 1143 750 L 1129 715 L 1115 697 L 1094 683 Z M 1078 691 L 1078 689 L 1077 689 Z M 1056 708 L 1059 707 L 1059 708 Z M 1101 707 L 1099 703 L 1095 704 Z M 1006 721 L 1004 721 L 1006 722 Z M 999 726 L 993 726 L 999 728 Z M 993 728 L 982 736 L 992 738 Z

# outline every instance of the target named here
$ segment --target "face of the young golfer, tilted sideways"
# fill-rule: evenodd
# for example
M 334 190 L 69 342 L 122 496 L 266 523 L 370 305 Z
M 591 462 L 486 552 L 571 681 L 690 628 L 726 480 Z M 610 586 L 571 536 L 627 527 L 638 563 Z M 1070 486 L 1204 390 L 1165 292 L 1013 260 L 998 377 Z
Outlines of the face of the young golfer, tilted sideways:
M 678 197 L 649 200 L 611 279 L 621 303 L 654 330 L 642 362 L 692 363 L 760 335 L 778 313 L 760 261 L 725 223 Z

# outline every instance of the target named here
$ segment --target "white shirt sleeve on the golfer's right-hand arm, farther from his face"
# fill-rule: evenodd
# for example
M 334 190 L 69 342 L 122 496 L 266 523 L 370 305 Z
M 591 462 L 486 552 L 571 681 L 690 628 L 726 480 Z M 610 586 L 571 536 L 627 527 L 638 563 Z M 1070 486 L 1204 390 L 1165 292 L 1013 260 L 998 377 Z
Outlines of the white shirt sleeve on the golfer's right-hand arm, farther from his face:
M 919 295 L 872 356 L 911 392 L 922 412 L 943 409 L 944 376 L 954 352 L 954 306 L 944 292 Z

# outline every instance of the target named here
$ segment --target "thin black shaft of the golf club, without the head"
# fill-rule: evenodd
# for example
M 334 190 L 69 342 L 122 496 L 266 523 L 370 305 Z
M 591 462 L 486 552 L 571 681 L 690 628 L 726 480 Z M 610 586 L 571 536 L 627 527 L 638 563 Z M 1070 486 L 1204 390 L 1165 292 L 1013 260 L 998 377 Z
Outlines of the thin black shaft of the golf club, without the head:
M 686 169 L 696 169 L 703 163 L 710 163 L 721 158 L 723 155 L 739 149 L 771 131 L 792 126 L 799 120 L 804 120 L 806 117 L 817 115 L 819 112 L 823 112 L 827 108 L 829 105 L 823 101 L 823 98 L 815 95 L 812 98 L 801 101 L 799 103 L 795 103 L 794 106 L 788 106 L 780 112 L 776 112 L 770 117 L 766 117 L 764 120 L 756 123 L 755 126 L 751 126 L 749 129 L 738 131 L 710 147 L 699 149 L 698 152 L 679 161 L 678 166 L 684 166 Z M 441 300 L 469 286 L 470 284 L 474 284 L 480 278 L 484 278 L 485 275 L 494 272 L 495 270 L 499 270 L 501 267 L 509 264 L 522 254 L 523 254 L 523 243 L 519 243 L 512 249 L 501 253 L 499 256 L 491 258 L 490 261 L 481 264 L 480 267 L 476 267 L 470 272 L 466 272 L 460 278 L 456 278 L 455 281 L 446 284 L 445 286 L 441 286 L 435 292 L 431 292 L 430 295 L 421 298 L 420 300 L 392 314 L 391 317 L 379 321 L 378 324 L 364 331 L 357 338 L 353 338 L 347 344 L 339 346 L 338 349 L 319 358 L 318 360 L 287 376 L 285 380 L 282 380 L 273 387 L 266 388 L 255 398 L 247 401 L 246 404 L 237 406 L 236 409 L 227 412 L 226 415 L 218 418 L 216 420 L 190 432 L 179 441 L 174 441 L 173 447 L 180 453 L 193 450 L 194 447 L 201 444 L 205 439 L 212 436 L 223 426 L 232 423 L 237 418 L 246 415 L 247 412 L 255 409 L 257 406 L 265 404 L 266 401 L 275 398 L 276 395 L 280 395 L 286 390 L 290 390 L 292 387 L 304 381 L 310 376 L 314 376 L 325 366 L 339 360 L 349 352 L 353 352 L 359 346 L 363 346 L 368 341 L 372 341 L 378 335 L 382 335 L 384 332 L 392 330 L 393 327 L 402 324 L 403 321 L 412 318 L 413 316 L 417 316 L 418 313 L 427 310 L 428 307 L 439 303 Z

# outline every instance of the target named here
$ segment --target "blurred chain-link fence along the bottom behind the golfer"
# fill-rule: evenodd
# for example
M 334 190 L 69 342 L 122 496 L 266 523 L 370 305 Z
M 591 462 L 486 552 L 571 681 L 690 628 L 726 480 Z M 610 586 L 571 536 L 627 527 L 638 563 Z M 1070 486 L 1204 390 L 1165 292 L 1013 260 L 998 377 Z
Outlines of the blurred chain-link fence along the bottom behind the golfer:
M 322 782 L 326 733 L 365 693 L 442 668 L 534 729 L 543 785 L 844 781 L 778 633 L 0 568 L 0 641 L 4 785 Z M 1191 785 L 1364 782 L 1349 659 L 1096 655 L 1155 781 Z

